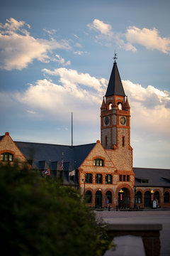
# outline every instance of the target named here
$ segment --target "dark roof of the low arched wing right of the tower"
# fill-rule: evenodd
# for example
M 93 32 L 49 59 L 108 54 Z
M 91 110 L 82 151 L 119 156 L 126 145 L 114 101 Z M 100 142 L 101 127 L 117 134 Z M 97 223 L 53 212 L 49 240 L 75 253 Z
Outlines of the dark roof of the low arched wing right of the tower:
M 135 186 L 170 187 L 170 169 L 133 168 Z M 142 181 L 148 180 L 148 183 Z

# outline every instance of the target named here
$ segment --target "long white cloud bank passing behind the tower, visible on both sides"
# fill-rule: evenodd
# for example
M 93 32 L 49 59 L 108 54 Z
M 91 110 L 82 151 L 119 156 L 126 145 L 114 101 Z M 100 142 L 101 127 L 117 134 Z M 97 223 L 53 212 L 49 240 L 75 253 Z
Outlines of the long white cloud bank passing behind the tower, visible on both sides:
M 26 105 L 28 113 L 60 119 L 61 123 L 68 118 L 68 113 L 73 111 L 75 121 L 98 124 L 108 80 L 67 68 L 43 69 L 42 72 L 55 80 L 57 78 L 58 82 L 37 80 L 29 85 L 25 92 L 13 95 L 2 93 L 1 102 L 4 98 L 8 99 L 12 106 L 13 101 L 17 100 Z M 145 131 L 146 134 L 153 131 L 155 134 L 169 134 L 170 92 L 159 90 L 152 85 L 145 88 L 129 80 L 123 80 L 123 87 L 130 102 L 131 127 Z

